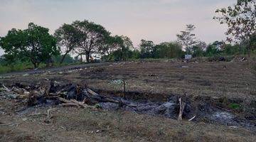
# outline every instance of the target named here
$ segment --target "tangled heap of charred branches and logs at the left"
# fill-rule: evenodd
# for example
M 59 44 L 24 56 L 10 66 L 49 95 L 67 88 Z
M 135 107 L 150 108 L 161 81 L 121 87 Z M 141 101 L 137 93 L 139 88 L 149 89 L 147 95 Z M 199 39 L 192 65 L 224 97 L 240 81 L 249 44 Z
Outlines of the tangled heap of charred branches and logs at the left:
M 51 104 L 82 108 L 93 107 L 100 102 L 117 103 L 120 107 L 130 105 L 118 97 L 97 94 L 86 86 L 79 84 L 60 84 L 55 81 L 51 81 L 46 87 L 39 84 L 26 86 L 19 83 L 6 87 L 2 84 L 1 94 L 2 96 L 3 94 L 7 95 L 11 99 L 24 99 L 28 107 L 47 104 L 49 102 Z

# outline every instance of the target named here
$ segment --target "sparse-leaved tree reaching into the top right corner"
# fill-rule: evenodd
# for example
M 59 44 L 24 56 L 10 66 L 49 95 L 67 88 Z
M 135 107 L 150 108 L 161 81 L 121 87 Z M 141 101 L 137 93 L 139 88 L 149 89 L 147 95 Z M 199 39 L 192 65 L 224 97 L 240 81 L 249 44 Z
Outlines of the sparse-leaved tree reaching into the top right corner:
M 215 11 L 219 16 L 214 19 L 220 24 L 227 24 L 229 42 L 240 43 L 247 47 L 247 54 L 250 56 L 250 50 L 255 48 L 251 43 L 251 38 L 256 30 L 256 1 L 255 0 L 238 0 L 235 6 L 217 9 Z

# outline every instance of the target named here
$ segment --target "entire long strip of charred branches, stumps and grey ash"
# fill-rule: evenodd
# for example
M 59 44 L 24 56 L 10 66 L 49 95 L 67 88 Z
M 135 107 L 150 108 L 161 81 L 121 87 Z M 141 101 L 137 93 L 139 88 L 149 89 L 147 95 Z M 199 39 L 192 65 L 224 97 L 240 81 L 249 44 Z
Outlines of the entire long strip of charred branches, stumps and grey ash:
M 170 119 L 178 119 L 179 121 L 183 119 L 188 121 L 207 119 L 228 126 L 245 126 L 255 129 L 255 125 L 247 119 L 242 119 L 230 111 L 208 104 L 199 103 L 195 106 L 188 100 L 187 96 L 170 97 L 167 102 L 150 102 L 149 100 L 134 101 L 123 97 L 97 94 L 87 86 L 61 84 L 56 81 L 50 81 L 47 85 L 25 85 L 20 83 L 8 87 L 4 84 L 0 85 L 0 97 L 18 100 L 18 102 L 26 104 L 27 107 L 48 104 L 62 107 L 119 109 L 152 116 L 164 116 Z

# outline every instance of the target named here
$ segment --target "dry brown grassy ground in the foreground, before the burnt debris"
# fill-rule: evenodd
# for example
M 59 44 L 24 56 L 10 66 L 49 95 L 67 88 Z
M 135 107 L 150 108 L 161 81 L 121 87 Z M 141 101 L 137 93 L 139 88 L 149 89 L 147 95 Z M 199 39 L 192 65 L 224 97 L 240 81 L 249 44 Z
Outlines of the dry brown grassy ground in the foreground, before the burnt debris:
M 3 103 L 3 102 L 1 102 Z M 48 108 L 38 108 L 45 112 Z M 179 122 L 132 112 L 55 108 L 45 116 L 1 115 L 0 141 L 255 141 L 255 133 L 240 128 Z M 26 118 L 26 120 L 24 119 Z M 25 120 L 25 121 L 24 121 Z

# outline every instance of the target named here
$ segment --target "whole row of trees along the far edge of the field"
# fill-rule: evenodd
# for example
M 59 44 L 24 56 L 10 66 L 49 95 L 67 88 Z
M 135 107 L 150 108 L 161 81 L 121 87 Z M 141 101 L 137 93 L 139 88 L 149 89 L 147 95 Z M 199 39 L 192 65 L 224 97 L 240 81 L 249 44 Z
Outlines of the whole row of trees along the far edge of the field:
M 154 44 L 151 40 L 141 40 L 139 47 L 134 47 L 129 37 L 112 35 L 105 27 L 87 20 L 64 23 L 53 35 L 48 28 L 28 23 L 28 28 L 13 28 L 0 37 L 0 48 L 5 53 L 0 58 L 0 67 L 15 68 L 18 64 L 22 70 L 31 65 L 36 68 L 84 61 L 184 58 L 186 54 L 213 57 L 247 53 L 250 56 L 256 47 L 255 5 L 252 0 L 238 0 L 233 7 L 217 9 L 219 16 L 214 19 L 228 25 L 228 38 L 208 45 L 196 37 L 193 33 L 196 26 L 192 24 L 186 25 L 174 42 Z

